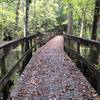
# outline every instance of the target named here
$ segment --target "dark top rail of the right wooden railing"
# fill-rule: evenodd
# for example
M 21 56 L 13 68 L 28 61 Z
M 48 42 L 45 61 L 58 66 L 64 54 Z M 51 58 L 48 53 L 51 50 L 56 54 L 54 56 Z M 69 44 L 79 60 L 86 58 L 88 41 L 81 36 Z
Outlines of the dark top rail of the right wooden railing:
M 69 37 L 77 42 L 79 42 L 80 44 L 87 44 L 87 45 L 93 45 L 96 47 L 100 48 L 100 42 L 99 41 L 95 41 L 95 40 L 90 40 L 90 39 L 86 39 L 86 38 L 80 38 L 77 36 L 73 36 L 73 35 L 64 35 L 65 38 Z

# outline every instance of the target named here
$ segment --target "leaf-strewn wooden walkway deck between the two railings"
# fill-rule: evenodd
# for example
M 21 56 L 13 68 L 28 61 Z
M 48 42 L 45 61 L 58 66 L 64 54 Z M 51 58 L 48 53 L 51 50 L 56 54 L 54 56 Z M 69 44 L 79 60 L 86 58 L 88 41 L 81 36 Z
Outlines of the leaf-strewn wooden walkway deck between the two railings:
M 56 36 L 31 58 L 11 92 L 11 100 L 100 100 L 63 50 Z

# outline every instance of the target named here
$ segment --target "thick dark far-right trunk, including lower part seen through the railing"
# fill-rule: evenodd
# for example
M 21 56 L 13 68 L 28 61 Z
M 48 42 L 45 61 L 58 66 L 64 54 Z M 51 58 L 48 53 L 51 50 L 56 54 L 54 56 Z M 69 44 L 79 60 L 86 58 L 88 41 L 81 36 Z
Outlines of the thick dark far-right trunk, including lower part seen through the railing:
M 97 29 L 99 25 L 99 19 L 100 19 L 100 0 L 95 1 L 95 10 L 94 10 L 94 20 L 93 20 L 93 27 L 92 27 L 92 36 L 91 39 L 96 40 L 97 39 Z M 98 64 L 99 54 L 95 50 L 90 50 L 90 60 L 94 64 Z

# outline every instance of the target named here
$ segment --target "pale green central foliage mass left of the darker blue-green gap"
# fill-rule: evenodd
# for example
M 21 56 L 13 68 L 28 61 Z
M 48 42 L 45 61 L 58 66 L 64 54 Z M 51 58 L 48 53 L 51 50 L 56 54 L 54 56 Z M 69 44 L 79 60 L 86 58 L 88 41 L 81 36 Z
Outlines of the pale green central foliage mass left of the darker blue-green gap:
M 45 6 L 44 6 L 45 5 Z M 37 0 L 31 4 L 30 31 L 47 31 L 57 24 L 53 0 Z

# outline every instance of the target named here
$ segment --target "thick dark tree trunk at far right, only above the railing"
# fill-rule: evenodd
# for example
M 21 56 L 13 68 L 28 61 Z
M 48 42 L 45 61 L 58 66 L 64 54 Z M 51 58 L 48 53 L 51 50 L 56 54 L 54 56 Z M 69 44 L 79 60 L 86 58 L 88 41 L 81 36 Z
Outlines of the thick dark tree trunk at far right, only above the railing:
M 100 18 L 100 0 L 96 0 L 93 27 L 92 27 L 92 36 L 91 36 L 91 39 L 93 40 L 96 40 L 97 38 L 97 27 L 98 27 L 99 18 Z

